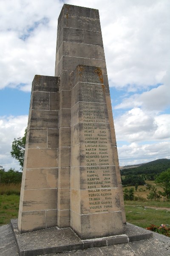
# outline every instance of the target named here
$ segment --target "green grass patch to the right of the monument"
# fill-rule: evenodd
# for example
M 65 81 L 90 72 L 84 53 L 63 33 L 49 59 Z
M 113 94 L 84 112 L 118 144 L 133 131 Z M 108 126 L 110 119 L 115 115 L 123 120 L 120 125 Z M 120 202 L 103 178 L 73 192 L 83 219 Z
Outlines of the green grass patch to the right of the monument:
M 161 224 L 170 225 L 170 210 L 144 208 L 141 203 L 143 202 L 138 202 L 138 205 L 125 205 L 127 222 L 142 228 L 151 224 L 158 226 Z

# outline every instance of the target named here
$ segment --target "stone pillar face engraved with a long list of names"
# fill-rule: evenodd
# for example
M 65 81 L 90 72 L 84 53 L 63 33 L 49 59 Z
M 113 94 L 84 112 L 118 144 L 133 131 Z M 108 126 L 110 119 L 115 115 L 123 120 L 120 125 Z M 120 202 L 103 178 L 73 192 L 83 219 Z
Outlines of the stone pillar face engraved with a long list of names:
M 81 198 L 81 214 L 118 211 L 119 193 L 105 88 L 94 72 L 79 71 L 79 76 L 81 82 L 72 90 L 72 132 L 76 136 L 72 139 L 71 166 L 74 177 L 80 177 L 80 185 L 74 180 L 74 188 L 80 189 L 77 196 Z

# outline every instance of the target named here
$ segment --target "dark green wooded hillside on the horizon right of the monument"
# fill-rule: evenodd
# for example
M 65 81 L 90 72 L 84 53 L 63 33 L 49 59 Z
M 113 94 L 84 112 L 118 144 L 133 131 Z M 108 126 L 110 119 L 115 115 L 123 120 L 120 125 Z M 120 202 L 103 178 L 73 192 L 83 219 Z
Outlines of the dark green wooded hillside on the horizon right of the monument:
M 121 170 L 121 175 L 130 175 L 130 174 L 159 174 L 162 171 L 166 171 L 167 168 L 170 168 L 170 159 L 157 159 L 145 164 L 138 165 L 138 167 L 125 166 Z

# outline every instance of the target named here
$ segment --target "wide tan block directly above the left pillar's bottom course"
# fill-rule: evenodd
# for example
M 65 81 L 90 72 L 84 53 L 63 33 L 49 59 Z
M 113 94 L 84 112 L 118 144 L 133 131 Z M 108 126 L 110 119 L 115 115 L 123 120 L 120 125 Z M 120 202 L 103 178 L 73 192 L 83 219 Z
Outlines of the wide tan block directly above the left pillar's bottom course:
M 31 189 L 24 191 L 23 211 L 57 209 L 57 189 Z

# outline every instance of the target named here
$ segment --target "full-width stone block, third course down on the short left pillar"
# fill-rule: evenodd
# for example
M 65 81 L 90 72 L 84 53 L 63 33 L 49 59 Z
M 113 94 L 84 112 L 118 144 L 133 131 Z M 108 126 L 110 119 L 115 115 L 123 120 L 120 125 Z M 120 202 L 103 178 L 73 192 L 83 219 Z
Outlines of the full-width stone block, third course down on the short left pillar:
M 58 128 L 59 111 L 32 110 L 30 128 Z

